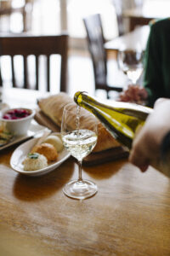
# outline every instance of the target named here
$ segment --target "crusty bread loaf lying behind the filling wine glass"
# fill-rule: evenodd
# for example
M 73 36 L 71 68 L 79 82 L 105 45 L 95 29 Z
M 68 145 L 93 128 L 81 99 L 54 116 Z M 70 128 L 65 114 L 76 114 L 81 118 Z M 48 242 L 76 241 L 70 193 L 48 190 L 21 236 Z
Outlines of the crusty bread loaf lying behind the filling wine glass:
M 38 106 L 42 110 L 42 113 L 52 119 L 53 122 L 60 127 L 61 119 L 63 114 L 63 109 L 66 104 L 74 102 L 71 96 L 66 93 L 61 92 L 57 95 L 48 96 L 39 100 Z M 82 109 L 84 112 L 82 122 L 85 124 L 85 128 L 89 129 L 90 124 L 94 124 L 94 121 L 98 122 L 98 142 L 93 150 L 93 152 L 100 152 L 110 148 L 120 147 L 120 143 L 111 136 L 111 134 L 105 129 L 105 127 L 99 122 L 98 119 L 86 109 Z M 72 119 L 69 122 L 71 125 Z M 87 127 L 86 127 L 87 125 Z

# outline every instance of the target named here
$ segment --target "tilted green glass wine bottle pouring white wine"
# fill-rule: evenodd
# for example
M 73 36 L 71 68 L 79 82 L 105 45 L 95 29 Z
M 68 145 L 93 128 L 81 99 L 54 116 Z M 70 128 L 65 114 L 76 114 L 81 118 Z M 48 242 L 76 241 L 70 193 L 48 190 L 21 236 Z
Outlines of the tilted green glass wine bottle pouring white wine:
M 111 135 L 129 149 L 136 131 L 144 125 L 148 114 L 153 111 L 151 108 L 127 102 L 101 102 L 81 91 L 76 92 L 74 101 L 94 113 Z

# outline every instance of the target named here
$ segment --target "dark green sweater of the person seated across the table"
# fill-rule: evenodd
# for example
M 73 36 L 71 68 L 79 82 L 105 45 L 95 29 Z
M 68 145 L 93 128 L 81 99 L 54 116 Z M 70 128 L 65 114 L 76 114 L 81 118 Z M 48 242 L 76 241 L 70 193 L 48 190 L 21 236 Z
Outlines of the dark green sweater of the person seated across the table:
M 159 97 L 170 98 L 170 19 L 150 23 L 144 54 L 144 88 L 150 107 Z

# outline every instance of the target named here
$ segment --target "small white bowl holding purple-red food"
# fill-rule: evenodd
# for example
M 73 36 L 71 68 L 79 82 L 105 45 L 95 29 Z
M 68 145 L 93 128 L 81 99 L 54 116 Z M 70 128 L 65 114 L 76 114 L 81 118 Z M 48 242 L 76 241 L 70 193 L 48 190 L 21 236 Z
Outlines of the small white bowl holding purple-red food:
M 3 115 L 5 113 L 8 113 L 8 111 L 14 109 L 26 109 L 31 114 L 21 119 L 3 119 Z M 33 119 L 35 113 L 35 110 L 32 110 L 31 108 L 9 108 L 8 110 L 6 109 L 2 111 L 0 120 L 6 124 L 6 128 L 9 132 L 16 136 L 20 136 L 26 134 L 28 131 L 29 126 L 31 125 L 31 119 Z

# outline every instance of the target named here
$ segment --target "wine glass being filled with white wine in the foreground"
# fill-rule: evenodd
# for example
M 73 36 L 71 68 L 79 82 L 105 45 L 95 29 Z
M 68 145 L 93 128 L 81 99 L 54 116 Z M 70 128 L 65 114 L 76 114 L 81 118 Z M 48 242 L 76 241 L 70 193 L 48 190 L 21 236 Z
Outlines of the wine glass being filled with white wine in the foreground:
M 97 143 L 98 122 L 88 123 L 85 109 L 71 103 L 65 106 L 61 122 L 61 137 L 65 148 L 78 161 L 77 180 L 67 183 L 63 189 L 65 195 L 74 199 L 86 199 L 96 194 L 97 185 L 82 179 L 82 160 L 94 149 Z M 91 115 L 91 114 L 90 114 Z

